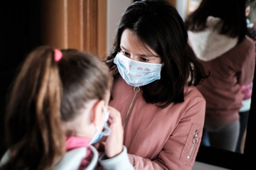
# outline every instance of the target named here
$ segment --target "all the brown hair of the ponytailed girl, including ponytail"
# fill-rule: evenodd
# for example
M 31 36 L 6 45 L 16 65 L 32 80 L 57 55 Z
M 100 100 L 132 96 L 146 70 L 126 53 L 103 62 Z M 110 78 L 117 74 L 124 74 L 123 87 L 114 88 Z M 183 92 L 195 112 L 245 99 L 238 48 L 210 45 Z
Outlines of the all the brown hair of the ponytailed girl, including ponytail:
M 91 53 L 41 46 L 22 65 L 7 105 L 8 162 L 0 169 L 46 170 L 65 153 L 62 121 L 73 119 L 110 88 L 108 67 Z

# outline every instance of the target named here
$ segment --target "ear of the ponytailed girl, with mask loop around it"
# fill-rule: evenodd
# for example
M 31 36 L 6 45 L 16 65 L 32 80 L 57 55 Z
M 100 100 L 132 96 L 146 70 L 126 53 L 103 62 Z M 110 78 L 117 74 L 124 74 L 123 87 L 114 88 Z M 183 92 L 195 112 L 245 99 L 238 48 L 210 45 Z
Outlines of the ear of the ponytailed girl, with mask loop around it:
M 98 128 L 101 128 L 101 126 L 103 126 L 104 113 L 102 108 L 104 104 L 105 101 L 100 100 L 97 101 L 92 107 L 92 123 Z

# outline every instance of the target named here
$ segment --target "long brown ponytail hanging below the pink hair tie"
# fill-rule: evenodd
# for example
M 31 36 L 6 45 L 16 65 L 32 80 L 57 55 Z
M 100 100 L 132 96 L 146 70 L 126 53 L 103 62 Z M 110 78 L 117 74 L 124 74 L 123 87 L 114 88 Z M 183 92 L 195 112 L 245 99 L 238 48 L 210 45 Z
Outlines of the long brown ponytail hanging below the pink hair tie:
M 65 153 L 60 119 L 62 83 L 54 58 L 53 49 L 38 47 L 17 75 L 5 121 L 10 157 L 0 169 L 51 169 Z

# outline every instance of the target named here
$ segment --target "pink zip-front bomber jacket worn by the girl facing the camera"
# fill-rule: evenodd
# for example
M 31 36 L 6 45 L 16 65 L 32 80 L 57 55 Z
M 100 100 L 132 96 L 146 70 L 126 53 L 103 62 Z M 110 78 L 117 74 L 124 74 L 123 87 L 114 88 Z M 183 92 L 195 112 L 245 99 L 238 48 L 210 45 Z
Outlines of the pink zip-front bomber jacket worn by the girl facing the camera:
M 166 108 L 146 103 L 142 89 L 121 76 L 114 80 L 110 106 L 121 112 L 124 145 L 138 170 L 191 170 L 201 142 L 206 101 L 194 86 L 185 88 L 185 101 Z M 129 114 L 128 108 L 134 102 Z M 126 118 L 127 117 L 127 118 Z

